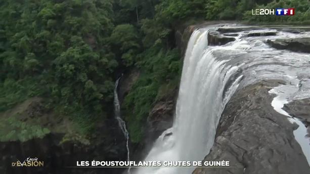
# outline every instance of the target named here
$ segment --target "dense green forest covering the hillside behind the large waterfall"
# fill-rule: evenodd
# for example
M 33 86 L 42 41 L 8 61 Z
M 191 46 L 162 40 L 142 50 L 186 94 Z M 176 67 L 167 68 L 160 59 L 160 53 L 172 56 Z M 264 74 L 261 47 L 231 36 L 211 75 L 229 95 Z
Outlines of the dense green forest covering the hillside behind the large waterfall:
M 295 16 L 252 16 L 295 8 Z M 307 22 L 308 0 L 19 0 L 0 2 L 0 112 L 28 98 L 71 117 L 81 133 L 113 115 L 121 72 L 141 75 L 122 109 L 132 142 L 153 104 L 178 88 L 182 59 L 174 29 L 195 20 Z

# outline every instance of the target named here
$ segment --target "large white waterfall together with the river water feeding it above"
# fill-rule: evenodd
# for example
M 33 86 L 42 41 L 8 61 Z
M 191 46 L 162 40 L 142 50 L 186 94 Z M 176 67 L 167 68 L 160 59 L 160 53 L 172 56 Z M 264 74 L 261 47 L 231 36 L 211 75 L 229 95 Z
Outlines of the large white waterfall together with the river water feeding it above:
M 145 161 L 203 160 L 213 146 L 219 118 L 238 87 L 264 79 L 281 79 L 287 83 L 283 84 L 280 92 L 274 94 L 288 94 L 285 101 L 310 97 L 304 91 L 310 89 L 309 84 L 303 82 L 309 73 L 310 55 L 278 51 L 266 44 L 267 39 L 296 37 L 295 35 L 276 31 L 277 35 L 255 36 L 250 29 L 240 30 L 237 34 L 231 34 L 235 41 L 224 46 L 208 46 L 208 32 L 212 29 L 214 27 L 193 32 L 184 59 L 173 126 L 156 140 Z M 266 31 L 275 32 L 268 28 L 254 32 Z M 299 84 L 301 82 L 302 85 Z M 271 104 L 274 107 L 275 102 Z M 277 107 L 275 109 L 279 111 Z M 309 159 L 309 142 L 304 138 L 306 132 L 302 123 L 294 135 Z M 141 167 L 137 169 L 137 173 L 191 173 L 193 169 Z

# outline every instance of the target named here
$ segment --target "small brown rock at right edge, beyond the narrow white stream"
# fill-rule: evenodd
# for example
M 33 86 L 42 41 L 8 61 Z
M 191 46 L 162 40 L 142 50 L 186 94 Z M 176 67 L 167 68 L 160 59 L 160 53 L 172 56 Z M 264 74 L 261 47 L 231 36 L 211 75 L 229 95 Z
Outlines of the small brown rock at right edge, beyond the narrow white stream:
M 283 107 L 287 113 L 302 119 L 303 122 L 310 124 L 310 98 L 294 100 Z

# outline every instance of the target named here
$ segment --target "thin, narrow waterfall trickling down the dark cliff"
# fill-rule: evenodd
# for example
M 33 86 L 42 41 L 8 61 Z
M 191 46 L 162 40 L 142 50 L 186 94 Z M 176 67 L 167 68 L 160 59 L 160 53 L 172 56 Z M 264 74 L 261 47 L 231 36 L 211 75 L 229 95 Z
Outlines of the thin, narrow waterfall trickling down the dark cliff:
M 118 94 L 117 94 L 117 86 L 118 86 L 118 82 L 120 80 L 121 77 L 119 77 L 116 82 L 115 82 L 115 86 L 114 86 L 114 114 L 115 114 L 115 118 L 118 122 L 118 125 L 120 127 L 120 129 L 122 130 L 125 139 L 126 139 L 126 149 L 127 149 L 127 161 L 130 161 L 129 159 L 129 147 L 128 147 L 128 141 L 129 141 L 129 133 L 126 129 L 126 123 L 125 121 L 120 117 L 120 105 L 119 105 L 119 100 L 118 100 Z M 128 167 L 127 173 L 130 174 L 130 167 Z

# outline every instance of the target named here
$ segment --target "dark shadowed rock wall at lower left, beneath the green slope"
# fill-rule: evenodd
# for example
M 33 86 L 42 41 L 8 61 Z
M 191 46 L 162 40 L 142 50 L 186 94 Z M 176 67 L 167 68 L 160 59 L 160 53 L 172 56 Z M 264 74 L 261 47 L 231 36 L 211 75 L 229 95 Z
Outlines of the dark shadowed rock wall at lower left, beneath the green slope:
M 112 124 L 113 125 L 113 124 Z M 106 125 L 107 126 L 107 125 Z M 110 123 L 111 126 L 111 123 Z M 75 141 L 60 143 L 64 134 L 51 133 L 43 138 L 26 142 L 0 142 L 0 173 L 35 174 L 35 173 L 121 173 L 122 168 L 70 168 L 76 161 L 92 160 L 126 160 L 124 138 L 115 124 L 113 128 L 101 128 L 102 134 L 96 134 L 90 144 L 84 145 Z M 103 130 L 105 129 L 105 130 Z M 110 136 L 109 136 L 110 135 Z M 113 136 L 112 136 L 113 135 Z M 12 162 L 23 162 L 27 157 L 37 157 L 44 161 L 43 167 L 12 167 Z

